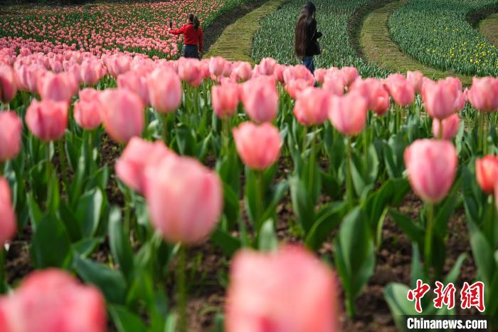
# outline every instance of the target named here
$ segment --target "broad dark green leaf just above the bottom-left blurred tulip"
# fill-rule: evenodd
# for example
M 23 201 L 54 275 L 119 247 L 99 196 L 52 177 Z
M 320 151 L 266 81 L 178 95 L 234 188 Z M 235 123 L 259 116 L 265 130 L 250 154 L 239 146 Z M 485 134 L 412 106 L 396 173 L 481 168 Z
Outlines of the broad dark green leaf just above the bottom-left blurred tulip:
M 64 224 L 53 214 L 37 225 L 31 241 L 31 257 L 38 269 L 68 266 L 70 241 Z

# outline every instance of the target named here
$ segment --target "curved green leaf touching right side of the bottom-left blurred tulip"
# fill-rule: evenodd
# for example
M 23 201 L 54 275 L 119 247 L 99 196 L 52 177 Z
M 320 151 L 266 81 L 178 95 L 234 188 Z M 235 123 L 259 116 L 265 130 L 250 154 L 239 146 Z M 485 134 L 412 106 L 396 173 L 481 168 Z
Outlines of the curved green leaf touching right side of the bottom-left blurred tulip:
M 78 275 L 89 284 L 97 286 L 104 294 L 107 302 L 123 304 L 127 293 L 127 284 L 120 271 L 107 266 L 75 256 L 73 266 Z

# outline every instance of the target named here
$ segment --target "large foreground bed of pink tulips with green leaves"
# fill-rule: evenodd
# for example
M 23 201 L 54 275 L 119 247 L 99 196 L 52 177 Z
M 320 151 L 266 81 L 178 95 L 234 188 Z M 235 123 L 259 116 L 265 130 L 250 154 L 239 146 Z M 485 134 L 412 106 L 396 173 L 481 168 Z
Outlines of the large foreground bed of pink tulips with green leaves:
M 435 82 L 418 72 L 361 78 L 344 67 L 313 76 L 272 58 L 251 68 L 223 58 L 79 52 L 65 53 L 55 73 L 57 58 L 21 52 L 1 61 L 11 66 L 0 67 L 0 239 L 8 244 L 29 225 L 33 265 L 97 286 L 120 332 L 186 331 L 188 249 L 207 239 L 228 257 L 240 251 L 226 331 L 336 331 L 334 274 L 309 251 L 339 229 L 334 270 L 354 316 L 387 214 L 413 243 L 413 276 L 435 281 L 446 272 L 448 219 L 465 207 L 478 277 L 489 285 L 497 278 L 497 78 L 475 78 L 463 90 L 457 78 Z M 110 146 L 119 154 L 114 167 L 104 158 Z M 203 165 L 212 158 L 214 169 Z M 289 175 L 278 170 L 282 162 Z M 124 217 L 109 182 L 122 192 Z M 425 202 L 418 220 L 396 209 L 410 187 Z M 309 251 L 277 249 L 277 207 L 287 195 Z M 89 258 L 105 241 L 113 264 Z M 173 257 L 176 313 L 164 284 Z M 3 264 L 0 271 L 5 291 Z M 43 283 L 51 296 L 32 291 Z M 395 319 L 415 313 L 407 290 L 386 287 Z M 497 289 L 486 291 L 494 316 Z M 79 319 L 83 306 L 94 318 Z M 63 272 L 36 272 L 0 300 L 0 326 L 104 331 L 104 308 L 95 289 Z

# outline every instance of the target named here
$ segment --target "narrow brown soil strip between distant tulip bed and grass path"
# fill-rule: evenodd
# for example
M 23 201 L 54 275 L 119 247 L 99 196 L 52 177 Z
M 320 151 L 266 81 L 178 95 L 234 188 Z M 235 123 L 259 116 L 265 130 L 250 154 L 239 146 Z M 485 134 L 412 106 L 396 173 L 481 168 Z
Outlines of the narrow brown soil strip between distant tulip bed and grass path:
M 204 31 L 204 53 L 207 53 L 211 45 L 215 43 L 227 26 L 233 24 L 235 21 L 240 19 L 240 17 L 245 16 L 245 14 L 248 14 L 250 11 L 258 8 L 266 1 L 267 0 L 247 1 L 242 6 L 238 6 L 235 9 L 218 16 L 213 24 L 208 26 L 206 31 Z M 234 41 L 234 43 L 235 42 L 236 41 Z

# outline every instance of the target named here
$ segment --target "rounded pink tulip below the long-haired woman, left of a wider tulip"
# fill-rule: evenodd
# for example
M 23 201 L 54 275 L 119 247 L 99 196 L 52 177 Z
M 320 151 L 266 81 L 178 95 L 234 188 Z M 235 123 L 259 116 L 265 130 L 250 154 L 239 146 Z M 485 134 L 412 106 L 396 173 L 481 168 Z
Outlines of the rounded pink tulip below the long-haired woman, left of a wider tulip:
M 299 94 L 294 115 L 303 125 L 321 125 L 327 120 L 330 95 L 318 88 L 307 88 Z

